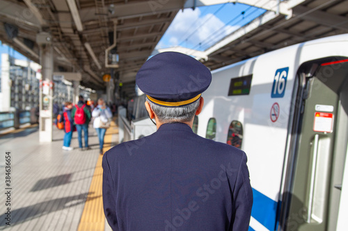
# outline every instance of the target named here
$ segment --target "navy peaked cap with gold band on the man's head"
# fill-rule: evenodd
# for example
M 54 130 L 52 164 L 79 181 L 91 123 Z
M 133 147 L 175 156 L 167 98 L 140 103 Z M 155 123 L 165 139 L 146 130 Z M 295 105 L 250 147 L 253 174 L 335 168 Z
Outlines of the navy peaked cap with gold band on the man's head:
M 168 107 L 193 103 L 211 82 L 212 74 L 205 65 L 172 51 L 154 55 L 136 74 L 136 84 L 148 99 Z

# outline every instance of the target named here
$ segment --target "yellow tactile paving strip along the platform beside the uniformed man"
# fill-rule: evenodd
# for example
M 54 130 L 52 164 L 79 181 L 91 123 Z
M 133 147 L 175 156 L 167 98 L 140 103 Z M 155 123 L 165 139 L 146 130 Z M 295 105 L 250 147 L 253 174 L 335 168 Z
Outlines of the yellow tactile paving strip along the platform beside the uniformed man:
M 118 132 L 115 119 L 111 122 L 111 127 L 106 130 L 104 137 L 104 153 L 111 148 L 112 136 Z M 102 200 L 102 155 L 99 156 L 90 189 L 86 199 L 84 212 L 82 212 L 81 221 L 78 231 L 104 231 L 105 216 L 103 211 Z

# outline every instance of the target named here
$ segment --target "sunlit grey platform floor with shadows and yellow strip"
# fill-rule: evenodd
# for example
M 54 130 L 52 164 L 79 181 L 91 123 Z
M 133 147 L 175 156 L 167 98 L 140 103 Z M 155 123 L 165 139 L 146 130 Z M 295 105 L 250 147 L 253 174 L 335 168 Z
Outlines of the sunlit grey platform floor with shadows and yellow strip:
M 102 210 L 102 155 L 92 124 L 88 134 L 92 148 L 88 151 L 79 150 L 77 132 L 72 136 L 74 150 L 63 151 L 64 132 L 55 127 L 52 143 L 39 143 L 38 126 L 0 136 L 0 230 L 111 230 Z M 117 140 L 113 123 L 106 131 L 104 151 Z M 6 152 L 10 152 L 9 186 Z M 4 214 L 8 207 L 10 225 Z

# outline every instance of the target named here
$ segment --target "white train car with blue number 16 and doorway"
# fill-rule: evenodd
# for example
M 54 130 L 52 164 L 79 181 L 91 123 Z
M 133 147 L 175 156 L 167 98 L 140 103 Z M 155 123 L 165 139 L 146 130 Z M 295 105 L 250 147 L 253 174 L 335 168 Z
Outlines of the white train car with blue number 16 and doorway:
M 265 53 L 212 76 L 194 128 L 246 152 L 254 196 L 249 230 L 347 230 L 348 34 Z

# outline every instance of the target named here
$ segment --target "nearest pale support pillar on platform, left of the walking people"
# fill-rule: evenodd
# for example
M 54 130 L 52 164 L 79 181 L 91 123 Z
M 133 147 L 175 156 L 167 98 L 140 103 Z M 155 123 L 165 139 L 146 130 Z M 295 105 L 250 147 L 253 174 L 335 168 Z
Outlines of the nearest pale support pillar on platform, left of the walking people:
M 49 42 L 49 40 L 47 40 Z M 52 142 L 53 126 L 53 49 L 52 44 L 40 44 L 40 65 L 42 66 L 42 79 L 40 80 L 40 117 L 39 141 Z

